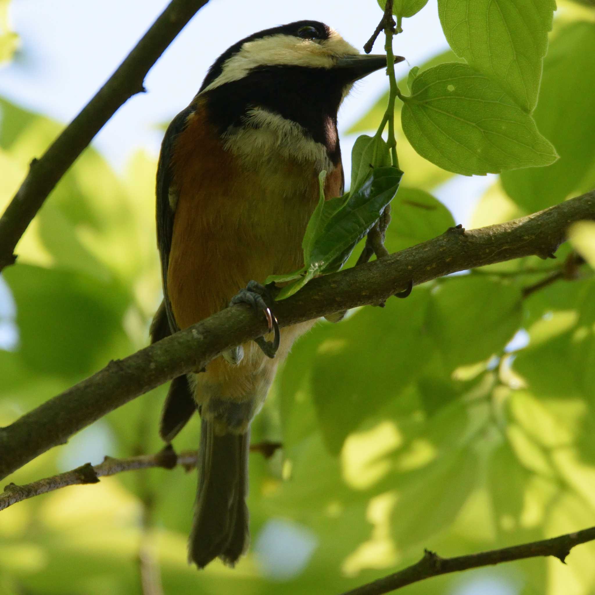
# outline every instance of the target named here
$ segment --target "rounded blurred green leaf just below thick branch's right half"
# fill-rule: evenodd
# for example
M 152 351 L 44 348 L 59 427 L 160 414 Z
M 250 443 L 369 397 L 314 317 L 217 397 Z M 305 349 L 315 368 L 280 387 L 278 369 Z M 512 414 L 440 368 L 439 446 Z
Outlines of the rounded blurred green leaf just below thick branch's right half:
M 501 352 L 521 315 L 518 287 L 466 275 L 444 280 L 432 294 L 427 331 L 452 369 Z

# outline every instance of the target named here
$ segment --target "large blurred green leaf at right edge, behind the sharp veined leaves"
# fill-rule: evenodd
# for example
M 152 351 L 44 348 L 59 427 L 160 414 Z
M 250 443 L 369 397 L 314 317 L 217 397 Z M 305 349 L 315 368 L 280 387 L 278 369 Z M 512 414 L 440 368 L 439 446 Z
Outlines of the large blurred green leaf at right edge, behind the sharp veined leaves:
M 546 168 L 502 175 L 508 195 L 527 212 L 563 201 L 595 164 L 595 23 L 572 23 L 550 43 L 543 62 L 539 102 L 533 114 L 538 129 L 560 154 Z M 593 182 L 584 187 L 591 189 Z

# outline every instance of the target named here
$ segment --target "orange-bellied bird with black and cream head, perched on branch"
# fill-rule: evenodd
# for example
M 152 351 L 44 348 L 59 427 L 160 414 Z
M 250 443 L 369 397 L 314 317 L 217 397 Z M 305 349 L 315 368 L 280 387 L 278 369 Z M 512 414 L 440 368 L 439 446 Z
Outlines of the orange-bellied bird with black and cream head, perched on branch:
M 255 281 L 303 266 L 302 237 L 318 202 L 320 171 L 327 171 L 327 199 L 343 193 L 339 105 L 356 80 L 385 66 L 385 56 L 359 54 L 325 24 L 299 21 L 246 37 L 209 68 L 161 146 L 164 300 L 153 341 L 230 300 L 262 306 Z M 171 383 L 162 438 L 171 441 L 197 408 L 202 420 L 189 541 L 189 560 L 199 568 L 217 557 L 233 565 L 248 547 L 250 421 L 278 363 L 312 324 L 283 328 L 274 359 L 246 343 Z

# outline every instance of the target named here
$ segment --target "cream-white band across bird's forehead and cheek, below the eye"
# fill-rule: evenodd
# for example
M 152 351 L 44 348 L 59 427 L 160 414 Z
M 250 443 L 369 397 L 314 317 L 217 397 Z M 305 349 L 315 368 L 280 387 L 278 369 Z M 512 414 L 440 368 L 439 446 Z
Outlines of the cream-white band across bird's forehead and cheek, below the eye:
M 202 93 L 243 79 L 250 70 L 260 66 L 332 68 L 337 58 L 358 54 L 357 49 L 333 30 L 330 37 L 320 43 L 292 35 L 271 35 L 245 43 L 237 54 L 224 62 L 221 74 Z

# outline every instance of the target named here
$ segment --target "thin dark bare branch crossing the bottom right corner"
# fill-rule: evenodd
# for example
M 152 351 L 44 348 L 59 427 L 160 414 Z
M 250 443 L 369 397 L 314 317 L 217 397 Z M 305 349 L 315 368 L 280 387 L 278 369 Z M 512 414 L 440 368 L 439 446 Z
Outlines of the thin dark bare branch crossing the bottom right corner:
M 383 593 L 390 593 L 390 591 L 406 585 L 418 583 L 426 578 L 438 577 L 441 574 L 461 572 L 469 568 L 480 568 L 525 558 L 554 556 L 560 562 L 564 562 L 574 546 L 593 540 L 595 540 L 595 527 L 551 539 L 524 543 L 520 546 L 504 547 L 500 550 L 490 550 L 457 558 L 440 558 L 436 553 L 425 550 L 424 557 L 417 564 L 351 591 L 346 591 L 342 595 L 383 595 Z

